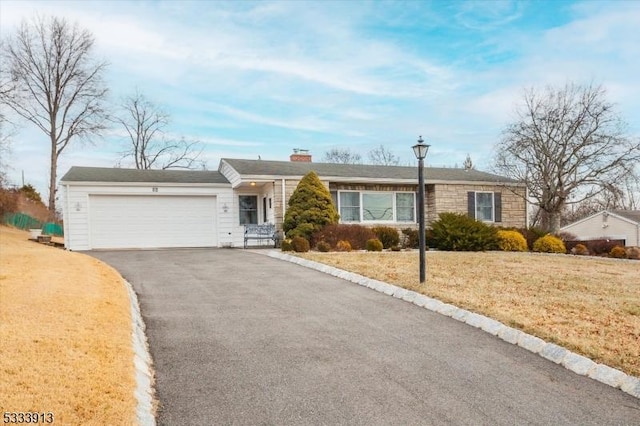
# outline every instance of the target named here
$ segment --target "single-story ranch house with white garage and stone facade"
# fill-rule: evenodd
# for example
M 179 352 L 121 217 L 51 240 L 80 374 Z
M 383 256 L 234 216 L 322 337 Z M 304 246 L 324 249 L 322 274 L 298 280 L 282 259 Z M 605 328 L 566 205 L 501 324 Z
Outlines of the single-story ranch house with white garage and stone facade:
M 71 250 L 242 247 L 244 225 L 282 229 L 287 201 L 315 171 L 342 223 L 416 227 L 417 168 L 222 159 L 218 171 L 72 167 L 61 179 L 65 245 Z M 466 213 L 497 226 L 526 226 L 525 186 L 477 170 L 426 168 L 426 220 Z

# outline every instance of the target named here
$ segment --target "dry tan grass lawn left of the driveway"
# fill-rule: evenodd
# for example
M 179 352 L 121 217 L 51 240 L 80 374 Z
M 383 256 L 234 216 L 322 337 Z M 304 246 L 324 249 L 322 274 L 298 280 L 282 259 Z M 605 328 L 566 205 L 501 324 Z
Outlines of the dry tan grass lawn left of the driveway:
M 0 412 L 135 423 L 129 295 L 118 273 L 0 226 Z

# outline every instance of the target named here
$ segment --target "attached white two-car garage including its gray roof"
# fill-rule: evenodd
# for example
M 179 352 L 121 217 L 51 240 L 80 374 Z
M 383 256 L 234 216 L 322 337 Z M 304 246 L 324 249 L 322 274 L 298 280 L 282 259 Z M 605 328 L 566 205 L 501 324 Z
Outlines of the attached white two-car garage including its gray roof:
M 70 250 L 233 245 L 233 190 L 218 172 L 72 167 L 61 186 Z

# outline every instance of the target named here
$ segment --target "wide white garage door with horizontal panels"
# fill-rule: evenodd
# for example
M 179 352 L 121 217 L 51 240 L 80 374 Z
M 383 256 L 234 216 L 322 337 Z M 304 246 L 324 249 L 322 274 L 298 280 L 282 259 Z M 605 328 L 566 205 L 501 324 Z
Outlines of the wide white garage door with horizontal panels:
M 89 197 L 91 248 L 215 247 L 216 198 Z

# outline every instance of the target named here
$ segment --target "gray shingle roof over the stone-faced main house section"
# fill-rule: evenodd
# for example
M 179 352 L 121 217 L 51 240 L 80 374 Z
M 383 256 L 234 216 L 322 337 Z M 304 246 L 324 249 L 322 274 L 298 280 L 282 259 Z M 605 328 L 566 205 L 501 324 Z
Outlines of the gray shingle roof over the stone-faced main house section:
M 251 176 L 304 176 L 311 170 L 321 178 L 363 179 L 417 179 L 417 167 L 373 166 L 363 164 L 305 163 L 295 161 L 240 160 L 223 158 L 241 175 Z M 517 183 L 513 179 L 479 170 L 452 169 L 442 167 L 425 168 L 425 179 L 429 181 L 466 181 Z

